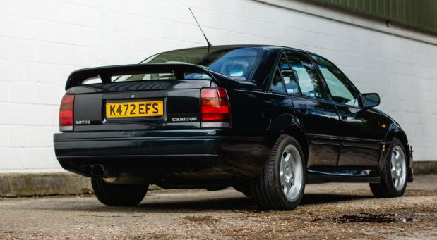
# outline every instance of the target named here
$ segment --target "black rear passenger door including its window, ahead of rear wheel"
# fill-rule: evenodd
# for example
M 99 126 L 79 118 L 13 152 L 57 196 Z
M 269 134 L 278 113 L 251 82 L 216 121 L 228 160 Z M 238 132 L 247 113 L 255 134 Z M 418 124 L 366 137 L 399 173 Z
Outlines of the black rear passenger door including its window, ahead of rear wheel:
M 286 51 L 291 71 L 284 77 L 287 93 L 291 96 L 297 118 L 309 139 L 308 168 L 329 168 L 337 165 L 340 151 L 340 119 L 335 104 L 306 53 Z

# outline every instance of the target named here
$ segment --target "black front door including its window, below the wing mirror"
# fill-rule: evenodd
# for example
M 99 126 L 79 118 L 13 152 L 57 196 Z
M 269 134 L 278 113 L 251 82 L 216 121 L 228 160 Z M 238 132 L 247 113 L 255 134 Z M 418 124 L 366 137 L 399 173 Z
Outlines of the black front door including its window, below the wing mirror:
M 319 56 L 311 58 L 340 114 L 341 148 L 337 168 L 376 168 L 385 134 L 380 126 L 380 114 L 361 107 L 359 91 L 333 63 Z

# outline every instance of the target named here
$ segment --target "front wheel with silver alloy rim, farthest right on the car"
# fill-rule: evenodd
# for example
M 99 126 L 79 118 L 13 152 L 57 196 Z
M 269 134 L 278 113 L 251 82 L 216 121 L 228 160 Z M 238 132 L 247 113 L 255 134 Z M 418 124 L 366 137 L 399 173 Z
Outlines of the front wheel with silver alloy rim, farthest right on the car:
M 407 155 L 404 145 L 398 139 L 388 149 L 381 170 L 381 182 L 371 183 L 370 189 L 376 198 L 394 198 L 402 196 L 407 188 Z

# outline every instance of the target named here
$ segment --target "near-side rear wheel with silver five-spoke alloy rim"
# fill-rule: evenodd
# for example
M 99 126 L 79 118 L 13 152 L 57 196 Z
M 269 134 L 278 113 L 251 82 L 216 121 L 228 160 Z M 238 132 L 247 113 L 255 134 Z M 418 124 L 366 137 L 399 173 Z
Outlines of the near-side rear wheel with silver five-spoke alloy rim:
M 281 135 L 254 180 L 251 193 L 263 209 L 293 210 L 304 196 L 305 180 L 306 164 L 299 142 Z

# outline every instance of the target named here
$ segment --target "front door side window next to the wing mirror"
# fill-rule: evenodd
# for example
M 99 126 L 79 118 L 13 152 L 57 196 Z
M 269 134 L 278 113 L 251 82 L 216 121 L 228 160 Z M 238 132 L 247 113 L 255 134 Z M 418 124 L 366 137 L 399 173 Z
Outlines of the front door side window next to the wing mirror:
M 333 100 L 337 103 L 359 106 L 359 93 L 354 85 L 352 85 L 352 82 L 333 63 L 316 56 L 311 57 L 316 61 Z

